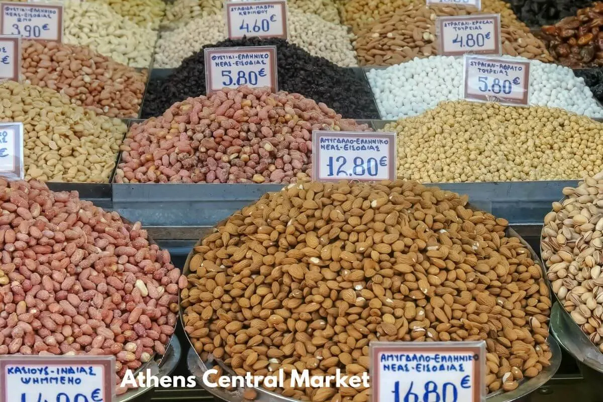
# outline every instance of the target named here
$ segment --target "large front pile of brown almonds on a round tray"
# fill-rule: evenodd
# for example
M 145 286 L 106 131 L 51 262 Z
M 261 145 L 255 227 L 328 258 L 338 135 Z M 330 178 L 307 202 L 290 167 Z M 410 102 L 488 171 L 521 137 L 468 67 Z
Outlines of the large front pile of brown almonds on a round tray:
M 201 359 L 254 375 L 358 374 L 370 341 L 485 340 L 488 391 L 512 390 L 549 365 L 551 300 L 507 225 L 413 181 L 290 184 L 194 248 L 185 330 Z M 276 391 L 314 402 L 370 393 Z

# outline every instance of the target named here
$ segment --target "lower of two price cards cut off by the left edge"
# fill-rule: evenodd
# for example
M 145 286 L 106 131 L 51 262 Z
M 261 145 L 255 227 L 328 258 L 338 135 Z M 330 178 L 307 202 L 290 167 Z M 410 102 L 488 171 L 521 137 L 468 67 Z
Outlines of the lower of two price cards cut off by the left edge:
M 0 123 L 0 176 L 24 179 L 23 142 L 23 123 Z

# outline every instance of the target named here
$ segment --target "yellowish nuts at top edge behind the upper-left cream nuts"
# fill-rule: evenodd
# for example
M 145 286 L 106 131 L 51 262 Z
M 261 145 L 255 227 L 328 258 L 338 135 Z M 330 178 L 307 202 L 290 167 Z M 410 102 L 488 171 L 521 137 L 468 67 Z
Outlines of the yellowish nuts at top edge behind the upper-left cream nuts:
M 165 2 L 162 0 L 94 0 L 109 4 L 119 15 L 136 25 L 158 30 L 165 14 Z

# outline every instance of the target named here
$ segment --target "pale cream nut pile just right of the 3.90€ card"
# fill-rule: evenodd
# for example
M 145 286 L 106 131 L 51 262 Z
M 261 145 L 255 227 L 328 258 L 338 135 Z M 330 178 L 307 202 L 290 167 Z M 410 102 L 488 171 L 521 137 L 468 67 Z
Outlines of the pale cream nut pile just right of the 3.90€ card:
M 139 27 L 109 5 L 72 0 L 65 4 L 63 42 L 93 51 L 130 67 L 151 64 L 157 33 Z

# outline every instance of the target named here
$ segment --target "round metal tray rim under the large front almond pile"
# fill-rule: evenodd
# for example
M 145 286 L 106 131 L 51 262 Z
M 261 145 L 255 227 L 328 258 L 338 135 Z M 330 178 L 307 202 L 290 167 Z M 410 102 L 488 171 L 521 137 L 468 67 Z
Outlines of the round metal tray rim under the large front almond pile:
M 467 206 L 470 208 L 473 208 L 473 209 L 478 209 L 473 204 L 467 204 Z M 225 223 L 226 223 L 226 219 L 219 222 L 216 226 L 223 225 Z M 209 233 L 211 233 L 211 231 Z M 538 258 L 538 255 L 535 253 L 534 249 L 532 249 L 532 247 L 529 245 L 529 243 L 526 242 L 521 236 L 519 236 L 519 234 L 517 234 L 517 232 L 515 230 L 513 230 L 513 228 L 511 228 L 511 227 L 507 228 L 507 236 L 517 237 L 520 240 L 520 242 L 522 243 L 522 245 L 529 250 L 532 260 L 534 260 L 534 262 L 536 262 L 540 266 L 541 274 L 546 275 L 542 262 Z M 195 243 L 195 247 L 197 247 L 197 245 L 200 245 L 201 240 L 202 239 L 199 239 L 197 241 L 197 243 Z M 191 252 L 189 253 L 189 255 L 186 259 L 185 266 L 183 268 L 184 275 L 188 275 L 190 273 L 189 265 L 190 265 L 190 262 L 191 262 L 191 259 L 193 256 L 194 256 L 194 250 L 191 250 Z M 182 308 L 182 305 L 181 305 L 180 306 L 180 320 L 182 322 L 182 326 L 185 327 L 183 313 L 184 313 L 184 309 Z M 186 334 L 186 332 L 185 332 L 185 334 Z M 191 344 L 191 348 L 187 355 L 187 363 L 188 363 L 189 371 L 191 372 L 191 374 L 195 375 L 195 378 L 197 379 L 197 383 L 200 386 L 202 386 L 204 389 L 206 389 L 206 391 L 210 392 L 210 394 L 212 394 L 215 397 L 218 397 L 224 401 L 240 402 L 242 400 L 243 389 L 237 388 L 235 391 L 227 391 L 225 389 L 220 389 L 218 387 L 211 388 L 211 387 L 207 386 L 201 380 L 201 378 L 203 377 L 203 373 L 205 371 L 207 371 L 207 369 L 208 369 L 207 364 L 206 364 L 206 362 L 203 362 L 201 360 L 200 356 L 197 354 L 197 351 L 195 351 L 195 348 L 193 347 L 192 342 L 191 342 L 191 338 L 189 338 L 188 334 L 186 334 L 186 338 L 189 340 L 189 344 Z M 520 382 L 519 386 L 514 391 L 504 392 L 502 390 L 499 390 L 496 392 L 492 392 L 487 395 L 487 400 L 490 402 L 514 402 L 514 401 L 528 402 L 529 401 L 528 395 L 531 394 L 532 392 L 534 392 L 540 386 L 544 385 L 546 382 L 548 382 L 553 377 L 553 375 L 555 375 L 555 372 L 557 372 L 557 370 L 559 369 L 559 366 L 561 365 L 561 350 L 559 348 L 559 345 L 555 341 L 555 338 L 552 336 L 549 336 L 547 341 L 550 345 L 551 352 L 552 352 L 552 357 L 551 357 L 551 362 L 550 362 L 551 364 L 548 367 L 545 367 L 543 369 L 543 371 L 541 371 L 540 374 L 538 374 L 536 377 L 530 378 L 529 380 L 523 380 L 522 382 Z M 276 392 L 271 392 L 264 388 L 260 388 L 260 387 L 255 388 L 254 387 L 254 389 L 257 392 L 257 397 L 255 398 L 255 401 L 257 401 L 257 402 L 299 402 L 298 400 L 295 400 L 294 398 L 283 397 L 282 395 L 276 394 Z

